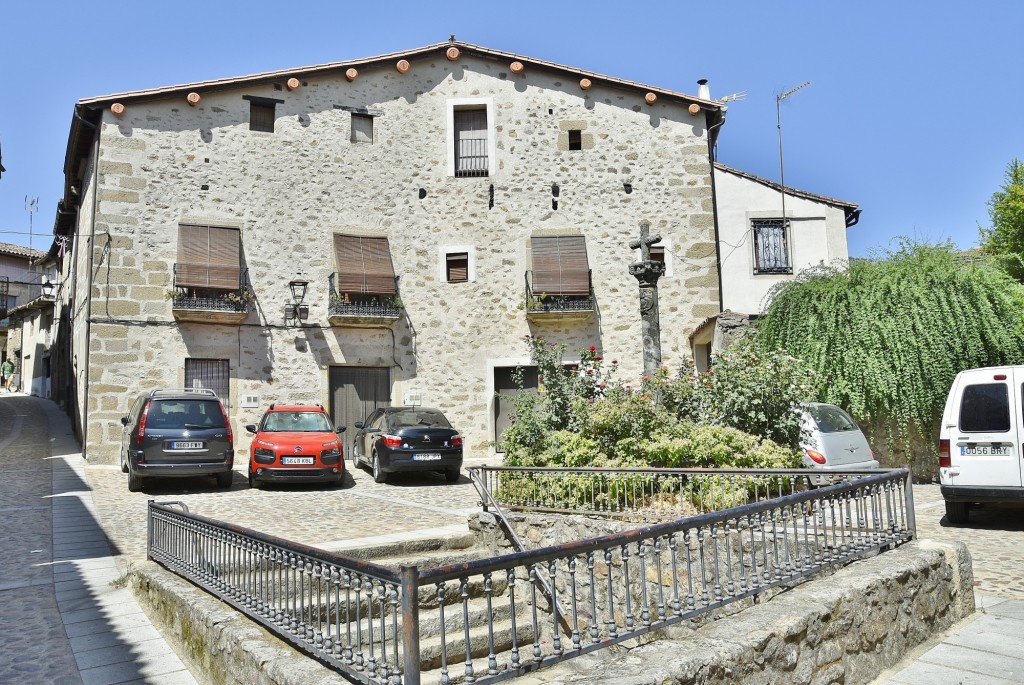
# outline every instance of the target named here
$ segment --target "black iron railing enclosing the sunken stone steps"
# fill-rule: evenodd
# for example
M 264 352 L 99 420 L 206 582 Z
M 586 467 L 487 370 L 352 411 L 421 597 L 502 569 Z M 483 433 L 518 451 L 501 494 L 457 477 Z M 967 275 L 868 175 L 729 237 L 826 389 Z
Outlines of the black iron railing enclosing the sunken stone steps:
M 419 685 L 522 675 L 791 586 L 914 536 L 906 469 L 817 488 L 809 488 L 812 472 L 803 471 L 645 469 L 615 476 L 611 470 L 481 467 L 470 473 L 506 524 L 501 507 L 525 508 L 526 502 L 540 503 L 540 511 L 595 513 L 606 502 L 614 510 L 614 501 L 631 518 L 649 511 L 670 520 L 438 568 L 394 570 L 151 502 L 148 555 L 358 682 Z M 588 487 L 598 475 L 603 480 Z M 559 498 L 535 497 L 531 480 L 562 483 Z M 634 482 L 635 489 L 627 485 Z M 581 499 L 581 493 L 588 495 Z M 621 497 L 625 493 L 631 495 Z M 672 518 L 660 505 L 649 506 L 654 495 L 686 500 L 692 515 Z M 701 511 L 736 502 L 742 504 Z

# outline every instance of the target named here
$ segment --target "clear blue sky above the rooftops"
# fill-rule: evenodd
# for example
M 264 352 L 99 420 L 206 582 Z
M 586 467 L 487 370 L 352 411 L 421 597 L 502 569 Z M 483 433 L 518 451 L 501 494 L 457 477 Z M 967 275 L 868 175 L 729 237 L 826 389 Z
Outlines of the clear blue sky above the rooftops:
M 5 3 L 0 242 L 47 249 L 77 100 L 460 40 L 729 105 L 719 161 L 855 202 L 850 253 L 895 237 L 977 244 L 1024 159 L 1024 2 Z

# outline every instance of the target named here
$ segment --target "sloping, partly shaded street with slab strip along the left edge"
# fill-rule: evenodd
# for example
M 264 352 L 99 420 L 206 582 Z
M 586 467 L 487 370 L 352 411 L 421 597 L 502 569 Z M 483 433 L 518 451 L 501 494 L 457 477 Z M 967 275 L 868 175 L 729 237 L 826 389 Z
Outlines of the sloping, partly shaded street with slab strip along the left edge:
M 152 626 L 96 520 L 52 402 L 0 393 L 0 683 L 195 685 Z

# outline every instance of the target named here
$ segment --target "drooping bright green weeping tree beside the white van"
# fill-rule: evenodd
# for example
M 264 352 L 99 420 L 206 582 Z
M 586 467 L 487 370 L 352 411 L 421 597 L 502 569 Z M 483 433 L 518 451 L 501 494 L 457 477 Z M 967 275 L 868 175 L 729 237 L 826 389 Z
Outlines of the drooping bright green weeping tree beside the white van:
M 902 242 L 895 251 L 819 267 L 780 287 L 755 340 L 808 362 L 819 399 L 884 427 L 912 455 L 957 372 L 1024 362 L 1024 286 L 949 244 Z

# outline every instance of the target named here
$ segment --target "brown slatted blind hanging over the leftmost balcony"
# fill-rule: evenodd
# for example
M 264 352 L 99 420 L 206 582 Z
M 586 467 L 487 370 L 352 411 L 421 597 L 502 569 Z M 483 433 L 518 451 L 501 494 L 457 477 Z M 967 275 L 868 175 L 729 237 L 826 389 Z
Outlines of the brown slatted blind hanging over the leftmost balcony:
M 238 290 L 242 271 L 240 234 L 238 228 L 180 224 L 175 287 Z

